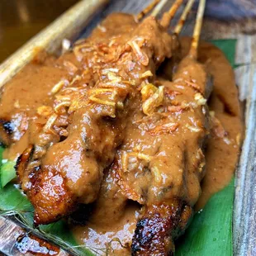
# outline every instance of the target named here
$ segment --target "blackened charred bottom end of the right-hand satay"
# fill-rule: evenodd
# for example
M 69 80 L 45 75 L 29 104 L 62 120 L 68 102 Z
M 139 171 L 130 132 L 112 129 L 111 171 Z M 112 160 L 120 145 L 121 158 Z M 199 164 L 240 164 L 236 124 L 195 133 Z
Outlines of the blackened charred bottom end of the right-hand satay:
M 180 200 L 150 206 L 136 226 L 131 255 L 173 255 L 173 239 L 181 235 L 192 217 L 192 207 Z

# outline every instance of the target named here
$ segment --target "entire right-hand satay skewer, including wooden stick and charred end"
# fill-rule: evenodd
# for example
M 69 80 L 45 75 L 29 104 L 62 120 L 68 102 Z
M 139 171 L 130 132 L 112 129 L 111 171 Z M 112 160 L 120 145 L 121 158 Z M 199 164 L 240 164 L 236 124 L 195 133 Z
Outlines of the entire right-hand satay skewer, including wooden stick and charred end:
M 192 206 L 201 192 L 200 181 L 206 164 L 203 149 L 209 134 L 206 108 L 209 90 L 206 70 L 197 62 L 197 46 L 205 3 L 204 0 L 199 3 L 190 52 L 178 65 L 178 72 L 173 77 L 174 86 L 184 88 L 187 85 L 196 93 L 190 94 L 186 89 L 183 93 L 190 97 L 188 102 L 191 104 L 187 106 L 182 102 L 180 110 L 175 104 L 168 107 L 168 111 L 176 113 L 178 118 L 174 122 L 178 124 L 174 129 L 178 134 L 171 145 L 163 136 L 154 158 L 149 159 L 152 182 L 132 239 L 132 255 L 173 255 L 173 240 L 186 228 L 192 216 Z M 177 111 L 182 111 L 181 115 L 177 115 Z M 160 136 L 163 126 L 157 128 Z

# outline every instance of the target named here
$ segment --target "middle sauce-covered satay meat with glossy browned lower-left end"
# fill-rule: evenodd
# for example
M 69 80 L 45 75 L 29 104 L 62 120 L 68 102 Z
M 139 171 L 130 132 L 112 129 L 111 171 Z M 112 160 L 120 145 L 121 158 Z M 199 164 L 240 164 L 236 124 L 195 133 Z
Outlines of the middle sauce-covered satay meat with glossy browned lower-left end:
M 147 79 L 154 81 L 156 68 L 172 55 L 172 36 L 153 17 L 109 43 L 108 51 L 114 48 L 115 55 L 106 54 L 98 67 L 92 66 L 99 80 L 73 107 L 67 139 L 50 146 L 45 154 L 37 146 L 39 136 L 35 146 L 21 155 L 17 169 L 22 188 L 35 206 L 36 224 L 58 220 L 78 202 L 96 199 L 102 169 L 121 143 L 137 89 Z

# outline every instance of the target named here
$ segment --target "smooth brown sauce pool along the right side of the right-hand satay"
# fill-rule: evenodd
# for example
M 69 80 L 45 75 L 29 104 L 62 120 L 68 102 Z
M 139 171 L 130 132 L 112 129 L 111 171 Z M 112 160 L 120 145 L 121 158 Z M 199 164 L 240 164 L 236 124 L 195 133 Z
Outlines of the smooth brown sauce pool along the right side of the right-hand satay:
M 186 40 L 187 43 L 187 40 Z M 223 126 L 226 137 L 212 136 L 206 149 L 206 175 L 201 183 L 201 197 L 197 210 L 210 197 L 230 183 L 234 176 L 243 136 L 243 124 L 233 72 L 225 55 L 209 43 L 201 44 L 199 60 L 205 62 L 214 77 L 214 88 L 209 102 L 210 111 Z

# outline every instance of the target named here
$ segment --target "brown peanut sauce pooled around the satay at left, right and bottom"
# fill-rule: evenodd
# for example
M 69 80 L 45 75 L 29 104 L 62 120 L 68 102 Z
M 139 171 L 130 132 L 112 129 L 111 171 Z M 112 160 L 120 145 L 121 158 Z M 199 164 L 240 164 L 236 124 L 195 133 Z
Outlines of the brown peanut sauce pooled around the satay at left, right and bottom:
M 189 45 L 189 39 L 182 40 L 183 56 L 186 55 Z M 53 98 L 50 97 L 51 89 L 61 78 L 67 78 L 69 73 L 73 72 L 70 65 L 67 67 L 64 63 L 67 59 L 75 62 L 72 55 L 64 55 L 57 61 L 46 58 L 44 61 L 29 64 L 2 89 L 1 121 L 15 120 L 15 127 L 12 127 L 12 142 L 5 151 L 4 158 L 17 159 L 17 156 L 27 148 L 29 138 L 33 136 L 26 130 L 29 122 L 36 121 L 39 125 L 45 125 L 46 119 L 36 115 L 36 110 L 42 105 L 53 104 Z M 223 53 L 209 43 L 201 43 L 199 60 L 206 64 L 214 78 L 209 108 L 218 126 L 211 130 L 211 138 L 206 147 L 206 176 L 201 183 L 202 192 L 197 202 L 197 210 L 201 209 L 214 193 L 230 183 L 239 156 L 242 134 L 238 92 L 230 64 Z M 36 133 L 36 129 L 33 132 Z M 8 142 L 6 141 L 6 144 Z M 78 188 L 80 189 L 79 186 Z M 195 198 L 198 195 L 197 188 Z M 107 253 L 113 255 L 129 255 L 130 249 L 126 248 L 126 244 L 130 244 L 135 231 L 139 209 L 139 206 L 128 204 L 120 220 L 108 221 L 106 216 L 106 220 L 74 227 L 73 234 L 79 243 L 97 249 L 99 253 L 106 254 L 107 250 Z

